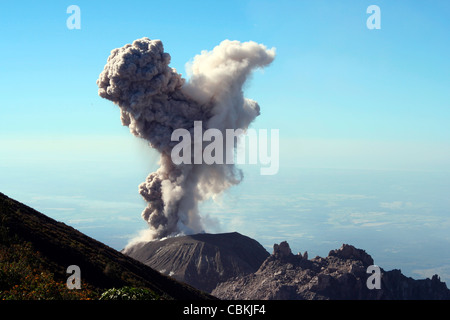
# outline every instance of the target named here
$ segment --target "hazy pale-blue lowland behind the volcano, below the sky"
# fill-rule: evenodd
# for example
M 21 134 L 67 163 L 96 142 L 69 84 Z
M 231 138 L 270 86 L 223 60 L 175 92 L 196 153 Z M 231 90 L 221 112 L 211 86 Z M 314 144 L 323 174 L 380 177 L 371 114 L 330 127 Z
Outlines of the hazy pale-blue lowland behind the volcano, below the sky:
M 66 176 L 71 187 L 64 191 L 56 184 L 58 177 L 51 179 L 51 188 L 33 190 L 22 185 L 20 169 L 9 169 L 3 175 L 9 192 L 1 192 L 116 250 L 146 229 L 140 216 L 145 203 L 136 192 L 139 170 L 129 171 L 134 179 L 111 174 L 109 190 L 102 192 L 102 179 L 80 181 L 76 175 Z M 276 176 L 261 176 L 258 166 L 245 169 L 240 185 L 200 206 L 206 232 L 237 231 L 269 252 L 274 243 L 288 241 L 294 253 L 308 251 L 310 257 L 326 256 L 348 243 L 366 250 L 385 270 L 401 269 L 416 279 L 437 273 L 450 282 L 450 173 L 281 167 Z M 54 168 L 40 174 L 49 170 Z M 96 169 L 103 179 L 109 172 Z M 112 201 L 111 188 L 120 195 Z

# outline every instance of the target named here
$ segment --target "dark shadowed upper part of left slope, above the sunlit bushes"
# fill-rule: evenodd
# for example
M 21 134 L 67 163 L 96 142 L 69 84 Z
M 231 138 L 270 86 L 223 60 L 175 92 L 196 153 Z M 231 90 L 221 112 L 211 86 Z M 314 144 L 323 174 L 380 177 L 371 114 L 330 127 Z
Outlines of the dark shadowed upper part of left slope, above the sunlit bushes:
M 212 299 L 210 295 L 160 274 L 78 230 L 0 193 L 0 246 L 30 243 L 45 268 L 66 281 L 66 269 L 77 265 L 82 284 L 99 289 L 146 287 L 163 299 Z

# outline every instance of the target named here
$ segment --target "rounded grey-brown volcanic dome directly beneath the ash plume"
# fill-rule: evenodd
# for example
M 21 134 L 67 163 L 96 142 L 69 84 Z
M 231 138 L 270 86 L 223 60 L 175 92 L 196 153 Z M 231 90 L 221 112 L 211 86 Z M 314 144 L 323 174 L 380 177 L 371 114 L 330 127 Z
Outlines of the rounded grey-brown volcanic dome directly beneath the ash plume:
M 166 238 L 123 252 L 206 292 L 219 282 L 255 272 L 270 255 L 256 240 L 237 232 Z

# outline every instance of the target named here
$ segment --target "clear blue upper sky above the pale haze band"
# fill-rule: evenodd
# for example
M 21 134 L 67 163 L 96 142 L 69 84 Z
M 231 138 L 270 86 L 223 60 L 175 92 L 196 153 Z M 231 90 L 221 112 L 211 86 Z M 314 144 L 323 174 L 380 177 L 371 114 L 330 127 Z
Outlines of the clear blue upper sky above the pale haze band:
M 81 30 L 66 27 L 70 4 L 2 4 L 2 137 L 121 135 L 95 84 L 111 49 L 159 38 L 185 74 L 195 54 L 236 39 L 277 49 L 246 91 L 262 106 L 255 127 L 283 128 L 308 147 L 370 143 L 379 158 L 407 142 L 424 151 L 420 169 L 445 169 L 433 152 L 448 163 L 445 1 L 379 1 L 381 30 L 366 28 L 369 1 L 79 1 Z M 410 149 L 398 157 L 411 161 Z

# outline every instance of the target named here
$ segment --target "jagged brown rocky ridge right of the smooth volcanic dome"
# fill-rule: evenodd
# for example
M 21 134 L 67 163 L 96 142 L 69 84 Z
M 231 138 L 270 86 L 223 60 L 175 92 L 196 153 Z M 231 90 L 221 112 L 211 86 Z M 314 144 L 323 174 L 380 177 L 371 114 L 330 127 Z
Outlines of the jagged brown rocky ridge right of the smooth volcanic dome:
M 373 263 L 364 250 L 347 244 L 326 258 L 308 260 L 306 252 L 294 255 L 282 242 L 256 272 L 220 283 L 212 294 L 229 300 L 450 299 L 437 275 L 414 280 L 400 270 L 380 268 L 380 289 L 369 289 L 367 268 Z

